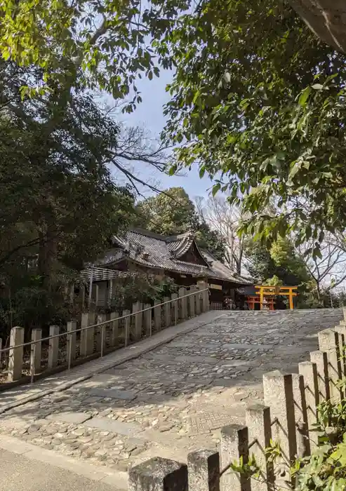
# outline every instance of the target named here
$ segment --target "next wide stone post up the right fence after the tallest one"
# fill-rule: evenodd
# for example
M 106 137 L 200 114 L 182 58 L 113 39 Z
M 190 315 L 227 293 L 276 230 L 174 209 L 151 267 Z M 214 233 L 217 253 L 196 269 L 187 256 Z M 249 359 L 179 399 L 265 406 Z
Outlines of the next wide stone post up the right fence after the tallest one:
M 340 391 L 340 389 L 338 389 L 336 383 L 342 377 L 342 373 L 338 333 L 328 329 L 320 331 L 319 349 L 321 351 L 326 351 L 327 354 L 331 401 L 339 403 L 342 398 L 342 392 Z

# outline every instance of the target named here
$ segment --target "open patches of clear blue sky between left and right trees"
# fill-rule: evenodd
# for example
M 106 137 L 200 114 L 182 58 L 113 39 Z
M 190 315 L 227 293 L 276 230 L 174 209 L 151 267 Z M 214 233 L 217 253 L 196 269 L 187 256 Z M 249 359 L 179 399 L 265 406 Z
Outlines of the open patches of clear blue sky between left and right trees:
M 165 125 L 163 106 L 168 101 L 169 95 L 166 93 L 166 84 L 172 80 L 172 72 L 163 70 L 159 78 L 154 77 L 151 81 L 140 79 L 136 82 L 138 90 L 141 91 L 142 103 L 138 105 L 133 114 L 121 115 L 121 120 L 129 126 L 142 126 L 150 131 L 152 137 L 159 137 Z M 153 177 L 152 168 L 147 170 Z M 200 179 L 197 168 L 187 170 L 186 176 L 166 176 L 157 172 L 154 177 L 161 183 L 160 189 L 181 186 L 187 191 L 189 197 L 206 196 L 208 189 L 211 188 L 211 180 L 208 177 Z

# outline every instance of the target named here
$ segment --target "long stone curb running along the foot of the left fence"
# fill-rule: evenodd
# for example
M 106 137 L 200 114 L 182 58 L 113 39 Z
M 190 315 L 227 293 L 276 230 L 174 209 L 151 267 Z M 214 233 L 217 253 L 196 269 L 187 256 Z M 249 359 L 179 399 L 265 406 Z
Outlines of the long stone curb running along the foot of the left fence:
M 143 354 L 146 354 L 149 351 L 152 351 L 153 349 L 156 349 L 156 348 L 162 346 L 163 344 L 166 344 L 168 342 L 173 341 L 173 339 L 175 339 L 176 337 L 178 337 L 180 335 L 187 334 L 188 332 L 192 332 L 198 328 L 203 327 L 204 325 L 210 324 L 211 322 L 214 322 L 214 321 L 218 320 L 219 318 L 225 317 L 225 316 L 227 316 L 227 314 L 220 314 L 220 316 L 216 316 L 215 318 L 213 318 L 212 321 L 210 320 L 210 321 L 206 321 L 206 322 L 201 322 L 201 323 L 199 323 L 199 325 L 194 325 L 194 326 L 191 326 L 189 328 L 182 329 L 180 332 L 175 332 L 173 335 L 168 335 L 169 333 L 167 332 L 167 337 L 165 339 L 160 339 L 156 343 L 152 344 L 151 346 L 144 347 L 144 348 L 140 349 L 140 344 L 144 341 L 147 341 L 147 339 L 150 339 L 150 338 L 142 339 L 142 341 L 133 344 L 131 347 L 125 348 L 126 350 L 128 350 L 128 349 L 134 349 L 135 347 L 137 347 L 137 351 L 135 351 L 135 353 L 127 354 L 126 356 L 124 356 L 123 358 L 121 358 L 117 361 L 112 361 L 111 363 L 109 363 L 105 367 L 98 368 L 97 370 L 94 370 L 93 372 L 89 373 L 88 375 L 84 375 L 83 377 L 78 377 L 78 378 L 71 380 L 69 382 L 65 382 L 65 384 L 61 384 L 59 387 L 57 387 L 55 389 L 42 390 L 39 394 L 33 394 L 32 396 L 28 396 L 26 398 L 20 399 L 20 401 L 15 401 L 14 403 L 9 403 L 7 405 L 4 405 L 2 408 L 0 408 L 0 415 L 2 415 L 4 412 L 7 412 L 8 410 L 18 408 L 20 405 L 24 405 L 27 403 L 31 403 L 33 401 L 37 401 L 38 399 L 41 399 L 45 396 L 49 396 L 53 393 L 65 391 L 65 390 L 69 389 L 70 387 L 72 387 L 76 384 L 79 384 L 79 382 L 84 382 L 85 380 L 91 379 L 91 377 L 93 377 L 94 375 L 98 375 L 102 372 L 106 372 L 107 370 L 110 370 L 111 368 L 114 368 L 117 365 L 121 365 L 122 363 L 126 363 L 127 361 L 131 361 L 134 358 L 138 358 L 138 356 L 142 356 Z M 176 326 L 172 326 L 172 327 L 176 327 Z M 168 328 L 168 329 L 170 329 L 170 328 Z M 167 330 L 157 332 L 157 334 L 155 334 L 151 339 L 153 339 L 156 335 L 160 335 L 161 332 L 165 332 L 165 331 L 167 331 Z M 115 353 L 117 353 L 117 351 L 114 351 L 114 354 Z M 112 354 L 110 354 L 110 355 L 112 355 Z M 107 355 L 107 356 L 110 356 L 110 355 Z M 100 360 L 101 358 L 96 358 L 96 359 Z M 91 362 L 87 362 L 87 363 L 93 363 L 93 362 L 91 361 Z

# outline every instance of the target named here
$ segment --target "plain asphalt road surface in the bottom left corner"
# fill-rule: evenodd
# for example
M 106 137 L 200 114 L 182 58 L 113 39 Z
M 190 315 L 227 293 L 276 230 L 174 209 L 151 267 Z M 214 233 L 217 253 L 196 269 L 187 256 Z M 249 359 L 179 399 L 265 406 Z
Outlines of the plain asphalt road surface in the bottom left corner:
M 114 491 L 113 486 L 3 449 L 0 463 L 0 491 Z

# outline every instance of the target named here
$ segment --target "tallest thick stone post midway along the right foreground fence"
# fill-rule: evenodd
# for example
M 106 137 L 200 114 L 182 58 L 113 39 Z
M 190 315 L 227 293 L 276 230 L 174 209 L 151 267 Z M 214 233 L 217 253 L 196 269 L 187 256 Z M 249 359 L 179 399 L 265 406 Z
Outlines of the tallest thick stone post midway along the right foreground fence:
M 278 459 L 274 471 L 282 474 L 281 469 L 288 471 L 286 463 L 293 462 L 297 452 L 292 375 L 284 375 L 279 370 L 266 373 L 263 375 L 263 389 L 265 405 L 270 407 L 272 421 L 275 420 L 272 425 L 272 439 L 279 443 L 284 456 L 283 459 Z M 287 480 L 288 472 L 282 478 Z

